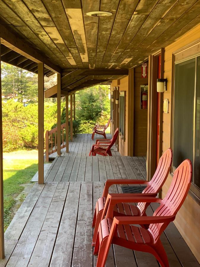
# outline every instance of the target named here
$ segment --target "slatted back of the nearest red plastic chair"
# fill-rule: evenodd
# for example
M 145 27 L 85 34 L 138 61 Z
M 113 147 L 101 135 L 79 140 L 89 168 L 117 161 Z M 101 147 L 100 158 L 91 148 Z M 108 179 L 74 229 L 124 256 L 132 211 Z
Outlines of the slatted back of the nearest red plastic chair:
M 190 160 L 184 160 L 174 172 L 172 183 L 167 195 L 155 210 L 153 216 L 176 215 L 182 206 L 190 189 L 192 179 L 192 164 Z M 155 241 L 167 227 L 168 223 L 153 223 L 149 225 Z

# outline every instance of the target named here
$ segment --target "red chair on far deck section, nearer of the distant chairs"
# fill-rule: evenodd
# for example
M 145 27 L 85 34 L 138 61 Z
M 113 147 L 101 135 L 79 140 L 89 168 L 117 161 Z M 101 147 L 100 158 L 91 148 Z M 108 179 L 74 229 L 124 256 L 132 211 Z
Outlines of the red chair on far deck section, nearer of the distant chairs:
M 89 152 L 89 156 L 91 155 L 96 156 L 96 154 L 102 155 L 102 156 L 112 156 L 111 147 L 117 140 L 118 134 L 119 134 L 119 130 L 117 128 L 110 142 L 105 142 L 106 140 L 108 141 L 108 139 L 105 139 L 104 141 L 102 140 L 102 142 L 98 141 L 97 144 L 93 144 L 92 149 Z M 106 144 L 103 144 L 103 143 L 106 143 Z

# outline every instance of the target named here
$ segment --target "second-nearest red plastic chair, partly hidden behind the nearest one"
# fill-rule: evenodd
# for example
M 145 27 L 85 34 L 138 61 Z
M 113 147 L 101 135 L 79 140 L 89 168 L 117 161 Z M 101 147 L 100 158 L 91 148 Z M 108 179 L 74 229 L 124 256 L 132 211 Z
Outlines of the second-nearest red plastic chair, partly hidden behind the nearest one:
M 107 180 L 105 183 L 105 188 L 103 191 L 103 195 L 101 198 L 98 199 L 92 227 L 95 227 L 94 234 L 93 234 L 93 240 L 92 240 L 92 246 L 95 245 L 96 238 L 97 238 L 97 231 L 100 224 L 100 221 L 104 218 L 107 209 L 108 209 L 108 203 L 105 204 L 106 198 L 108 196 L 108 190 L 111 185 L 114 184 L 145 184 L 147 187 L 143 190 L 141 194 L 110 194 L 111 196 L 116 196 L 121 199 L 121 197 L 129 197 L 129 202 L 132 203 L 132 198 L 135 196 L 150 196 L 150 197 L 156 197 L 162 186 L 164 185 L 164 182 L 167 179 L 167 176 L 169 174 L 170 168 L 172 164 L 172 149 L 168 148 L 164 154 L 159 159 L 158 167 L 156 169 L 155 174 L 153 175 L 153 178 L 150 182 L 144 181 L 144 180 L 130 180 L 130 179 L 117 179 L 117 180 Z M 138 203 L 137 206 L 135 205 L 129 205 L 127 203 L 120 203 L 117 204 L 114 208 L 114 215 L 113 216 L 146 216 L 146 209 L 150 205 L 150 203 Z M 143 227 L 148 227 L 143 226 Z

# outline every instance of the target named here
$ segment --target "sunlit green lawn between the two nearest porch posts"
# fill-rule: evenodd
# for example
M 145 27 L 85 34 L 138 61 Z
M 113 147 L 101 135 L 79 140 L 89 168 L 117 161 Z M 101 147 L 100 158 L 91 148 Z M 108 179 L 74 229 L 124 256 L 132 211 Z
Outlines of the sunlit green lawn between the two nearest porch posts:
M 23 191 L 22 184 L 29 183 L 38 170 L 37 151 L 20 150 L 4 153 L 4 230 L 9 226 L 13 216 L 13 208 L 16 197 Z M 20 197 L 17 208 L 23 202 L 25 196 Z M 16 209 L 16 207 L 15 207 Z

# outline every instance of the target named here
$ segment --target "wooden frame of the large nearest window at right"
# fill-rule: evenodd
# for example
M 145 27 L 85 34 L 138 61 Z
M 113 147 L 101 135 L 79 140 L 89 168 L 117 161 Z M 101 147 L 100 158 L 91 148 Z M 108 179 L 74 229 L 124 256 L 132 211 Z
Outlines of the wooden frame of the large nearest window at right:
M 172 54 L 172 111 L 171 111 L 171 147 L 174 151 L 174 119 L 175 119 L 175 65 L 188 61 L 189 59 L 195 58 L 195 87 L 194 87 L 194 109 L 193 109 L 193 162 L 194 166 L 194 153 L 195 153 L 195 123 L 196 123 L 196 71 L 197 71 L 197 57 L 200 56 L 200 41 L 193 42 L 192 44 L 182 47 Z M 171 175 L 174 175 L 174 158 L 172 158 Z M 194 184 L 194 169 L 191 187 L 189 194 L 195 199 L 200 205 L 200 189 Z

